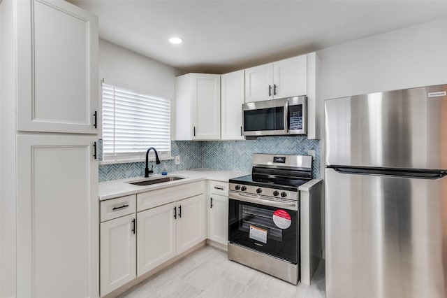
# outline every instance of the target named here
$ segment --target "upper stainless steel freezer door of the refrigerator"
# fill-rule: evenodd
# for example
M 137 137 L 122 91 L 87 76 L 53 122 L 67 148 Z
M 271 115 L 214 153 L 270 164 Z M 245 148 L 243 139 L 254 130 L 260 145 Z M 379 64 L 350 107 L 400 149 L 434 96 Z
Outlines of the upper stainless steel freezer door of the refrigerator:
M 447 85 L 325 101 L 326 165 L 447 169 Z

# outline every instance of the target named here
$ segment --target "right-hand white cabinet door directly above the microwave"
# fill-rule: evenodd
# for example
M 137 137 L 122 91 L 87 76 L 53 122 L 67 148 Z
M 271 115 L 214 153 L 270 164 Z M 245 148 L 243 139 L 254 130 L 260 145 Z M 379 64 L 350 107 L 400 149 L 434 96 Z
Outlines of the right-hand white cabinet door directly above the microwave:
M 307 94 L 306 55 L 284 59 L 273 64 L 275 99 Z

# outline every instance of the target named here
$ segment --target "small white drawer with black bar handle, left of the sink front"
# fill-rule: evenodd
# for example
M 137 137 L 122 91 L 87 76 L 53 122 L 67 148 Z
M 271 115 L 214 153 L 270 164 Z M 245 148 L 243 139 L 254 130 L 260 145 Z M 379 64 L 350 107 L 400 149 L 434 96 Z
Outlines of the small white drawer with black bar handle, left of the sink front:
M 101 201 L 101 222 L 134 213 L 136 194 Z

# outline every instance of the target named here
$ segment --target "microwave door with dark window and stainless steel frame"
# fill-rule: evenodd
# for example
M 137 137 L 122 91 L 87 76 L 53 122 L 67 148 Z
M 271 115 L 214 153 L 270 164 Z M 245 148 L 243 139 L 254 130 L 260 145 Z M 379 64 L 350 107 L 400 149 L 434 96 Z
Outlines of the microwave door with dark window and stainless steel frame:
M 255 101 L 242 105 L 244 136 L 288 134 L 288 99 Z

